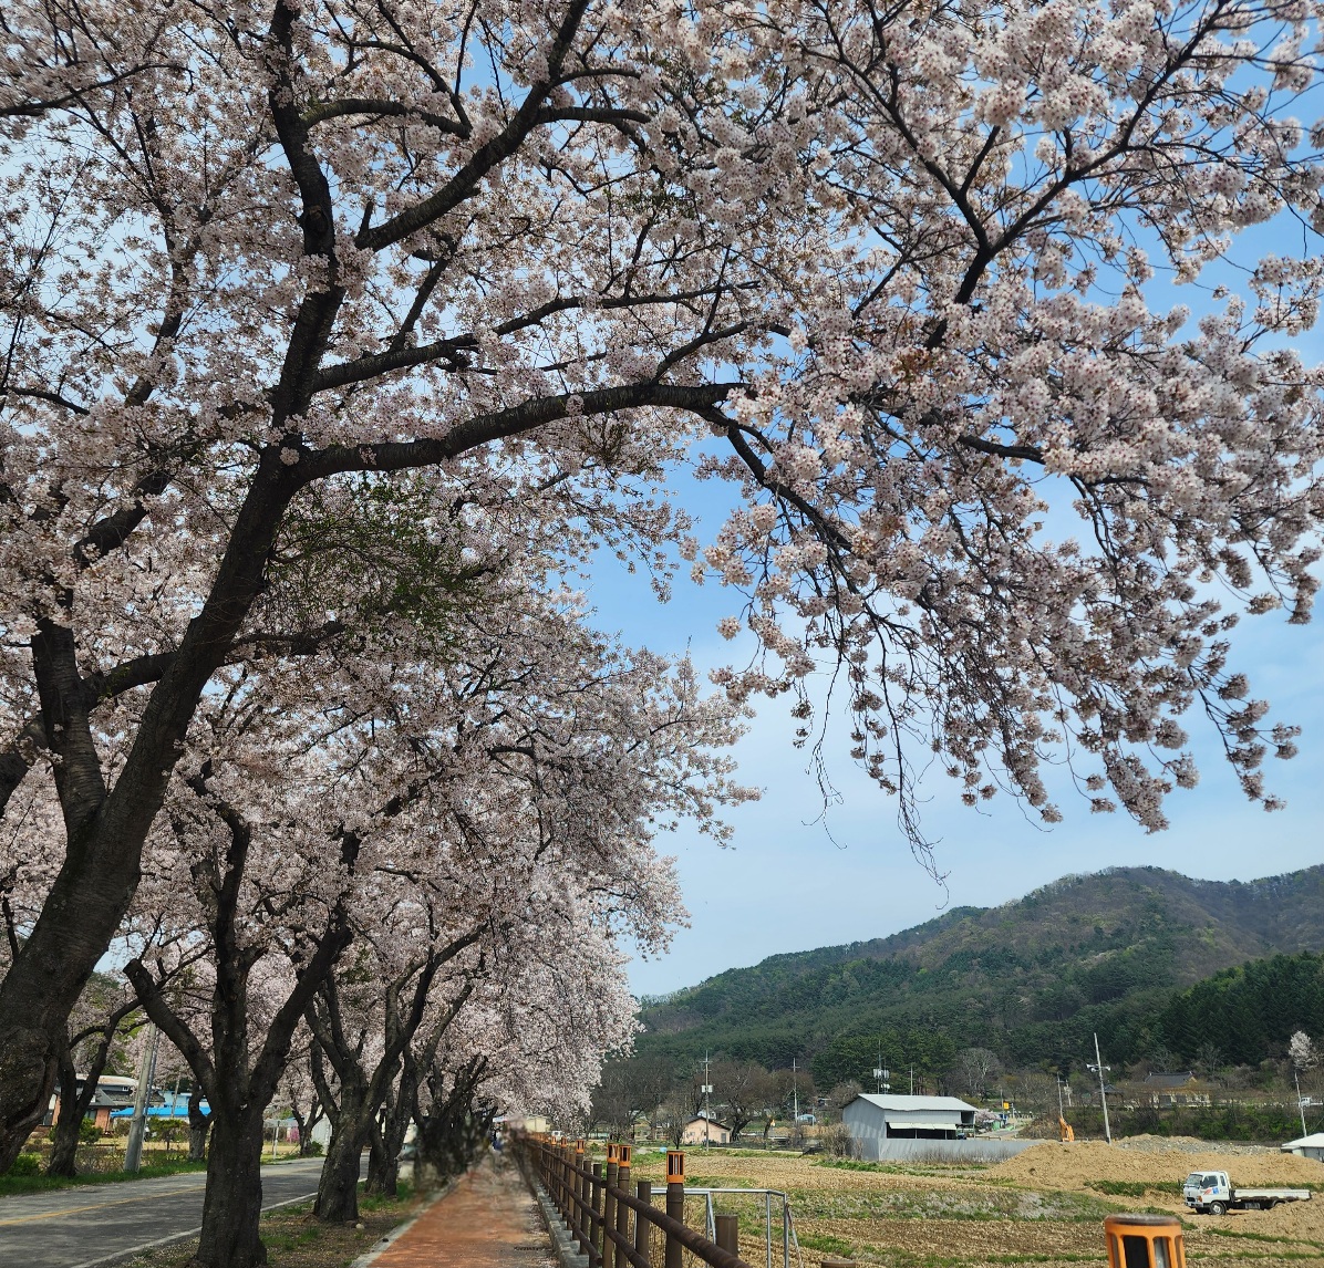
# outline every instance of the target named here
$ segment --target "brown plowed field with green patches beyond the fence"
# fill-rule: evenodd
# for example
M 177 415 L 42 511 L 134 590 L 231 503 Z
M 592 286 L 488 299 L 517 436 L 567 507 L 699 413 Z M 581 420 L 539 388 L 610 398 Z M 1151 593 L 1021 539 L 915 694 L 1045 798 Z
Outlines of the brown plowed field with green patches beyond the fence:
M 1272 1211 L 1192 1215 L 1181 1203 L 1181 1181 L 1204 1169 L 1225 1170 L 1238 1185 L 1312 1187 L 1315 1195 Z M 988 1167 L 842 1166 L 691 1152 L 686 1170 L 690 1187 L 786 1193 L 804 1268 L 820 1268 L 828 1256 L 890 1268 L 1103 1265 L 1103 1218 L 1127 1210 L 1180 1215 L 1192 1268 L 1324 1268 L 1324 1166 L 1276 1150 L 1222 1153 L 1217 1145 L 1144 1138 L 1112 1146 L 1045 1142 Z M 661 1186 L 661 1154 L 637 1154 L 633 1175 Z M 761 1202 L 715 1195 L 714 1203 L 740 1215 L 741 1257 L 755 1268 L 767 1264 Z M 687 1222 L 702 1228 L 703 1207 L 702 1198 L 690 1198 Z M 772 1240 L 773 1268 L 781 1268 L 780 1223 Z

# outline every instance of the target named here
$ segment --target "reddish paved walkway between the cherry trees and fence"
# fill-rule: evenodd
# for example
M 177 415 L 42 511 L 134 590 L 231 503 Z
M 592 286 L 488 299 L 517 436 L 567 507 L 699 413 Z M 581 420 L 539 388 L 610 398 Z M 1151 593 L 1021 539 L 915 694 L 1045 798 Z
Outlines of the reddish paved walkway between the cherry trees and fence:
M 489 1158 L 428 1207 L 372 1268 L 545 1268 L 553 1261 L 519 1170 Z

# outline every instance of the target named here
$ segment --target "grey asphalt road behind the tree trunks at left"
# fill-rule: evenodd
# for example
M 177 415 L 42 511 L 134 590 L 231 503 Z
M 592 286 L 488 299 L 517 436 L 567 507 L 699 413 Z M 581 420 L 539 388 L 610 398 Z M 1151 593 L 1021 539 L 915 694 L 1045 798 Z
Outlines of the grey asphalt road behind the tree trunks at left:
M 262 1208 L 312 1197 L 320 1158 L 262 1167 Z M 196 1234 L 205 1171 L 0 1198 L 0 1268 L 99 1268 Z

